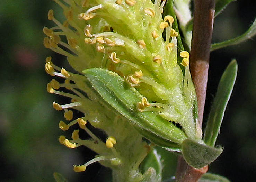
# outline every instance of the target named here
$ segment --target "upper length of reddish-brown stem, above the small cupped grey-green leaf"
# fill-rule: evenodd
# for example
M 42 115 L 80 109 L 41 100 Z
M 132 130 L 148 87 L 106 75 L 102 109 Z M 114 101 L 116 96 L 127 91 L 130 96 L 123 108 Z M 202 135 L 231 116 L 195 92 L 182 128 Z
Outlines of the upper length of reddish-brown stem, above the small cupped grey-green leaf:
M 190 71 L 198 103 L 198 121 L 202 127 L 215 0 L 194 0 L 194 25 L 191 44 Z

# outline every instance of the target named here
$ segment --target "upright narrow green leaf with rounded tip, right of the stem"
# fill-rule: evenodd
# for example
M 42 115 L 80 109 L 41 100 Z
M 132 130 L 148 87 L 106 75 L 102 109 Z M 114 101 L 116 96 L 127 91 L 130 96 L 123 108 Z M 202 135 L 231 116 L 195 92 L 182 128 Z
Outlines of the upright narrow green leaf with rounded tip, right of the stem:
M 204 142 L 209 146 L 215 145 L 220 131 L 224 112 L 236 81 L 237 67 L 236 60 L 232 60 L 221 76 L 204 133 Z

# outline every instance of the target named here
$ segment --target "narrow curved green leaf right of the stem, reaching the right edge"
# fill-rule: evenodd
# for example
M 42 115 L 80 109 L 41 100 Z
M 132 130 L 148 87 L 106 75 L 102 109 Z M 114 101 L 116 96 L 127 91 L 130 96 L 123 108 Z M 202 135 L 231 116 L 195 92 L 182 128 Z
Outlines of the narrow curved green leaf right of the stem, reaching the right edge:
M 253 36 L 255 36 L 255 34 L 256 34 L 256 18 L 255 18 L 253 24 L 250 26 L 250 28 L 244 34 L 242 34 L 236 38 L 230 39 L 230 40 L 212 44 L 211 51 L 214 51 L 214 50 L 217 50 L 217 49 L 220 49 L 223 47 L 227 47 L 230 45 L 239 44 L 241 42 L 244 42 L 245 40 L 252 38 Z

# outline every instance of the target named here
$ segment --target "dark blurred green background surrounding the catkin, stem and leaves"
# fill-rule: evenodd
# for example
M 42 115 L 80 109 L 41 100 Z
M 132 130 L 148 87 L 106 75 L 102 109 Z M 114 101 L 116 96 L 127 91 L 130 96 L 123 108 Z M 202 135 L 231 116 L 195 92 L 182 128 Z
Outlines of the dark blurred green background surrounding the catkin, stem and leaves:
M 255 8 L 254 0 L 232 2 L 216 18 L 213 42 L 244 33 L 256 16 Z M 47 56 L 59 60 L 59 65 L 64 64 L 64 58 L 42 44 L 43 26 L 53 26 L 47 19 L 48 9 L 54 9 L 62 20 L 61 9 L 50 0 L 0 1 L 0 181 L 54 181 L 53 172 L 60 172 L 69 181 L 101 181 L 99 176 L 110 172 L 99 164 L 89 166 L 84 173 L 72 170 L 73 164 L 83 164 L 95 153 L 85 147 L 68 149 L 58 142 L 64 133 L 58 128 L 63 116 L 52 108 L 52 102 L 64 98 L 47 93 L 51 76 L 45 73 L 44 64 Z M 211 53 L 205 120 L 225 67 L 232 58 L 239 66 L 217 141 L 224 152 L 209 168 L 234 182 L 250 181 L 256 171 L 255 49 L 252 38 Z M 170 162 L 165 161 L 165 165 Z M 169 170 L 174 171 L 166 169 L 165 175 Z

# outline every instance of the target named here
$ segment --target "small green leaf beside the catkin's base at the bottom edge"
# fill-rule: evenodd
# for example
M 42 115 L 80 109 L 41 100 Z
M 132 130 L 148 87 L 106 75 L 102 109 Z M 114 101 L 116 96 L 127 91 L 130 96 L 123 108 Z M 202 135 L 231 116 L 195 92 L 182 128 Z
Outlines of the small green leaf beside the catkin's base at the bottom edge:
M 155 169 L 156 178 L 161 179 L 163 166 L 161 162 L 161 157 L 158 155 L 156 149 L 152 149 L 147 157 L 140 164 L 140 169 L 142 173 L 145 173 L 150 167 Z

